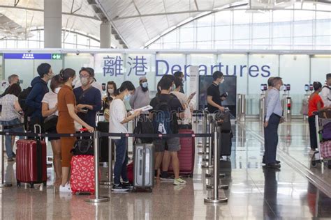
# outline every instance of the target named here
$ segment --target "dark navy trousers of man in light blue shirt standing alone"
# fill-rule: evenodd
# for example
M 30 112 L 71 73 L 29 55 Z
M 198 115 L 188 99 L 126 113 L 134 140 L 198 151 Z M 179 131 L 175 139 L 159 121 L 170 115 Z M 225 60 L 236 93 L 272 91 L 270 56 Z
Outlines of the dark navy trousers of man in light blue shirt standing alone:
M 276 162 L 278 145 L 278 126 L 281 117 L 272 113 L 267 127 L 265 127 L 265 164 Z

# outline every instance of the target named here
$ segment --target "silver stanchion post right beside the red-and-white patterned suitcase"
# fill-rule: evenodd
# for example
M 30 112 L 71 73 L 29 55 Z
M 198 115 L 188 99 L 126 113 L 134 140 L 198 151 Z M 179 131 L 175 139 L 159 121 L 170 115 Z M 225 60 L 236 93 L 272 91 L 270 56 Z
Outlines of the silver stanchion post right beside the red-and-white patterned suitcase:
M 94 132 L 94 198 L 85 199 L 89 203 L 102 203 L 110 201 L 109 197 L 99 196 L 99 141 L 100 132 Z

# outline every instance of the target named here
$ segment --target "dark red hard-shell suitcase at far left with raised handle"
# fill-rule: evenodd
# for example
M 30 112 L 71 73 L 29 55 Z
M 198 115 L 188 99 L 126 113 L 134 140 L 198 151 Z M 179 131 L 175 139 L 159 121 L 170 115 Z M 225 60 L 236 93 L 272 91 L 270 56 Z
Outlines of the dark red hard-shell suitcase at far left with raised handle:
M 33 188 L 35 183 L 47 182 L 46 143 L 37 140 L 18 140 L 16 142 L 16 180 L 17 186 L 27 182 Z

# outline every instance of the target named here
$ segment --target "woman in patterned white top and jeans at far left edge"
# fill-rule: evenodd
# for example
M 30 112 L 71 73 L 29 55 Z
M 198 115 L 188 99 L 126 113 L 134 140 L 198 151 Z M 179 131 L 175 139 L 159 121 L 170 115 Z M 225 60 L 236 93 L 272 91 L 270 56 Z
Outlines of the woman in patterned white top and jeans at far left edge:
M 20 95 L 22 89 L 18 84 L 13 84 L 9 86 L 8 92 L 5 96 L 0 98 L 0 104 L 2 105 L 2 111 L 0 116 L 1 125 L 19 125 L 20 113 L 22 111 L 20 104 L 18 104 L 18 95 Z M 13 127 L 9 129 L 4 129 L 5 132 L 24 132 L 22 125 L 18 127 Z M 13 162 L 13 157 L 16 157 L 12 148 L 11 136 L 6 135 L 6 153 L 8 157 L 8 162 Z

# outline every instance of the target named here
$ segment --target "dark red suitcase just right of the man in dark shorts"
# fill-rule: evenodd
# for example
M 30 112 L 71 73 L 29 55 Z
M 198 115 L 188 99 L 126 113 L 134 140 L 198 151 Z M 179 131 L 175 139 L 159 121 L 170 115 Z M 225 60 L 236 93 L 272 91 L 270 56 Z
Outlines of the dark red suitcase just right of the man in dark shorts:
M 191 129 L 179 129 L 179 134 L 194 134 L 194 132 Z M 194 138 L 180 138 L 180 150 L 178 151 L 179 175 L 193 176 L 195 150 L 196 143 Z M 172 173 L 171 163 L 168 171 Z

